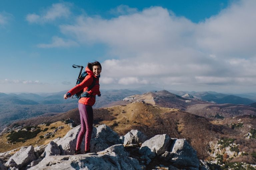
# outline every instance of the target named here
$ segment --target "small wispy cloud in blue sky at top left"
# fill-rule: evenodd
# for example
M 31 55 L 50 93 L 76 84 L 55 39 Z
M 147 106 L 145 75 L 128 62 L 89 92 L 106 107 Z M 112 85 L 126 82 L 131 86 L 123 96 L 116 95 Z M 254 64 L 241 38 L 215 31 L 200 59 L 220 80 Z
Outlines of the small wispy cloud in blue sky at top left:
M 29 23 L 46 23 L 60 18 L 67 18 L 70 13 L 69 3 L 57 3 L 52 4 L 52 6 L 42 12 L 42 14 L 28 14 L 26 20 Z

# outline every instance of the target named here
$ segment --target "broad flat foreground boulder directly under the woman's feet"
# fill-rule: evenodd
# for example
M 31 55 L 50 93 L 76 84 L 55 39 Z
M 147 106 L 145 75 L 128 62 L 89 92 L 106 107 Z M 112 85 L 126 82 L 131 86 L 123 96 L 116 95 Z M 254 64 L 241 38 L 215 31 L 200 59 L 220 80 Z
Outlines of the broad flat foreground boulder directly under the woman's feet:
M 127 157 L 122 144 L 114 145 L 102 152 L 84 155 L 61 155 L 45 157 L 30 170 L 38 169 L 106 169 L 106 170 L 142 170 L 139 161 Z

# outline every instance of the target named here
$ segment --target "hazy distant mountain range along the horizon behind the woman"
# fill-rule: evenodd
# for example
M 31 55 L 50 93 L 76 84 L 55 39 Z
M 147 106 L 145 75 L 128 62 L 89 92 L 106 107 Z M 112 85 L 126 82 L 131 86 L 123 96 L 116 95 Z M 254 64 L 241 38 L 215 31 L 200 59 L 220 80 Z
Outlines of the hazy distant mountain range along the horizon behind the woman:
M 201 116 L 212 116 L 221 114 L 225 117 L 228 115 L 253 114 L 255 112 L 255 101 L 235 96 L 232 94 L 221 94 L 217 92 L 187 92 L 187 91 L 171 91 L 172 93 L 159 88 L 145 92 L 145 89 L 111 89 L 101 90 L 102 96 L 96 97 L 94 108 L 101 108 L 113 106 L 116 104 L 127 104 L 129 101 L 122 101 L 122 99 L 132 95 L 142 95 L 141 100 L 147 102 L 155 102 L 162 107 L 177 108 L 186 110 L 191 113 Z M 20 94 L 5 94 L 0 93 L 0 130 L 7 124 L 20 119 L 28 119 L 37 117 L 45 113 L 61 113 L 77 108 L 77 99 L 63 99 L 63 95 L 67 91 L 57 93 L 20 93 Z M 173 94 L 175 93 L 175 94 Z M 194 98 L 182 98 L 185 94 L 194 96 Z M 246 96 L 253 96 L 252 94 L 241 94 Z M 146 98 L 143 98 L 146 97 Z M 113 103 L 117 102 L 117 103 Z M 212 103 L 215 103 L 213 105 Z M 113 103 L 113 104 L 112 104 Z M 231 103 L 233 105 L 217 105 L 222 103 Z M 243 104 L 243 106 L 236 106 Z M 244 105 L 251 104 L 251 107 Z M 209 111 L 209 107 L 211 108 Z M 236 109 L 234 109 L 236 108 Z M 207 112 L 206 112 L 207 110 Z M 206 114 L 207 113 L 207 114 Z

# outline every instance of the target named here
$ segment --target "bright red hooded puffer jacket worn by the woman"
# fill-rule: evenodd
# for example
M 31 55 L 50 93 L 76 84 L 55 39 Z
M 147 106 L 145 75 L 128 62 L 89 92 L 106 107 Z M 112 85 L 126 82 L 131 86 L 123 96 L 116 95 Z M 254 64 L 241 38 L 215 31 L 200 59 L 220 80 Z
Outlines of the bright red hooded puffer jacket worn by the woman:
M 99 78 L 96 77 L 88 67 L 85 68 L 85 71 L 88 73 L 88 75 L 84 78 L 84 80 L 80 84 L 76 85 L 68 91 L 68 93 L 70 93 L 71 96 L 81 91 L 82 89 L 84 89 L 85 92 L 88 89 L 88 87 L 92 85 L 93 77 L 96 79 L 95 85 L 90 91 L 88 91 L 88 93 L 93 96 L 100 95 Z M 95 97 L 82 97 L 81 99 L 79 99 L 78 102 L 85 105 L 93 106 L 95 103 Z

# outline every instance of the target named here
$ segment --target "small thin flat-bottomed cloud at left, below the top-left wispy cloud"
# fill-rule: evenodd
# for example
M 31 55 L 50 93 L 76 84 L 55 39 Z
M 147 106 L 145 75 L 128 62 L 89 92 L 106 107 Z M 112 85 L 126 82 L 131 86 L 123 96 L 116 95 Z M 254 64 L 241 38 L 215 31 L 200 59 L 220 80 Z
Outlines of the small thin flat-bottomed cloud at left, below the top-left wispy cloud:
M 63 40 L 59 37 L 53 37 L 52 42 L 49 44 L 38 44 L 37 47 L 39 48 L 54 48 L 54 47 L 70 47 L 70 46 L 77 46 L 78 43 L 72 40 Z

